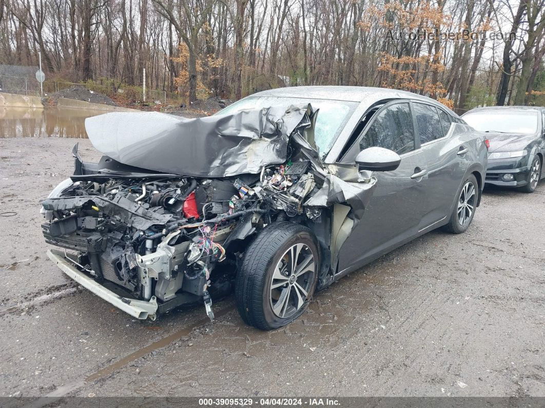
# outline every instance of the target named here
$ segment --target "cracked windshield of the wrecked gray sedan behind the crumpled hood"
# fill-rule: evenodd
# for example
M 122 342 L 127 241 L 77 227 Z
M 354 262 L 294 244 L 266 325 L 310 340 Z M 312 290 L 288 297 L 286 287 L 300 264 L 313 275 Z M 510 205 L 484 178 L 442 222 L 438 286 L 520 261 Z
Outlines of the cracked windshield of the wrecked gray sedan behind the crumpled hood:
M 248 98 L 234 102 L 232 105 L 229 105 L 218 113 L 227 114 L 249 108 L 255 109 L 277 105 L 285 106 L 287 108 L 289 105 L 299 103 L 310 103 L 315 111 L 319 109 L 316 126 L 314 127 L 314 140 L 320 156 L 324 157 L 329 149 L 331 149 L 331 146 L 344 127 L 344 124 L 346 124 L 346 121 L 350 118 L 350 115 L 352 115 L 356 106 L 358 106 L 358 102 L 311 98 L 284 98 L 278 96 L 249 96 Z

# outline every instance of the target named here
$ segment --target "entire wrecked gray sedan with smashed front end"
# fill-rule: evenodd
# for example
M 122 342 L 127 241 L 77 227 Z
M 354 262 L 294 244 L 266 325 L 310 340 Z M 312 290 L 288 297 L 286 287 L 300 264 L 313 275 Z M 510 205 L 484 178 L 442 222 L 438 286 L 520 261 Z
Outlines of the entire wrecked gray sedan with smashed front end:
M 138 319 L 234 288 L 250 325 L 304 312 L 316 290 L 479 206 L 480 133 L 424 96 L 297 87 L 206 118 L 88 118 L 104 156 L 45 199 L 49 257 Z

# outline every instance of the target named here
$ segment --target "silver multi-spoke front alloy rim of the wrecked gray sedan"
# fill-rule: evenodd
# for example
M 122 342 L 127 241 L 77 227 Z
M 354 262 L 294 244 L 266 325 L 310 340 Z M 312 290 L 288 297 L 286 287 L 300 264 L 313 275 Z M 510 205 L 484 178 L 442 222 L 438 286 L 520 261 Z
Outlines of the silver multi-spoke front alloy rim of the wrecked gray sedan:
M 316 260 L 304 243 L 289 247 L 275 266 L 270 306 L 279 318 L 293 316 L 305 303 L 316 274 Z

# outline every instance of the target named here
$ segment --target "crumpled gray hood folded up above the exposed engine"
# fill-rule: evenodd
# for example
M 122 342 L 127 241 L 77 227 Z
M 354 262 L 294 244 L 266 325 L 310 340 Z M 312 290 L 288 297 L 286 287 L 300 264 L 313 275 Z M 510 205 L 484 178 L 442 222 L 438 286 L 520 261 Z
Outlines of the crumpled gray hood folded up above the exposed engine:
M 290 137 L 311 127 L 310 105 L 204 118 L 112 112 L 85 120 L 96 150 L 128 166 L 193 177 L 259 173 L 287 160 Z

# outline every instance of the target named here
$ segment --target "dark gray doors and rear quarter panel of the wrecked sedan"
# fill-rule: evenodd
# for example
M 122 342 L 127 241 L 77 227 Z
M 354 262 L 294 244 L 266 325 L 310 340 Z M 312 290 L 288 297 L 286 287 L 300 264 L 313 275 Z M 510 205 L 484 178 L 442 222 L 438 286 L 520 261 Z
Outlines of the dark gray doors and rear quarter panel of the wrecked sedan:
M 414 99 L 408 98 L 406 94 L 400 96 L 381 107 L 373 118 L 382 109 L 406 100 L 429 103 L 458 118 L 437 101 L 421 96 Z M 370 103 L 369 99 L 365 101 L 368 106 L 375 105 L 377 101 L 374 102 Z M 359 119 L 363 117 L 361 115 Z M 372 121 L 369 121 L 362 135 Z M 352 234 L 341 247 L 336 279 L 448 223 L 459 188 L 470 173 L 476 174 L 482 191 L 487 162 L 487 149 L 482 135 L 465 124 L 452 123 L 446 136 L 420 145 L 416 120 L 413 122 L 416 150 L 402 155 L 396 170 L 373 173 L 377 179 L 373 196 L 364 217 L 355 225 Z M 459 151 L 465 149 L 467 153 L 458 155 Z M 344 157 L 342 161 L 348 163 L 352 160 L 352 157 Z M 411 179 L 411 175 L 422 170 L 426 170 L 424 175 Z

